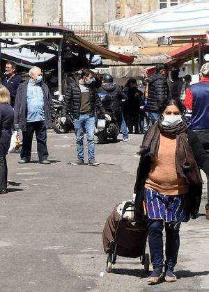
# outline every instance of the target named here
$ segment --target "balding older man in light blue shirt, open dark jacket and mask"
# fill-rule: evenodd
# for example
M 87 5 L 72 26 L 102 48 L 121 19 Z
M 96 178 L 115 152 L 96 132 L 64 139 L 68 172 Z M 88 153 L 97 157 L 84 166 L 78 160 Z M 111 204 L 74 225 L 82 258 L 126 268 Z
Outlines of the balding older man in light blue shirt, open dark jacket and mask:
M 36 133 L 39 163 L 50 164 L 47 151 L 47 127 L 55 117 L 54 104 L 49 88 L 42 81 L 39 67 L 32 67 L 29 79 L 21 83 L 15 99 L 15 127 L 23 133 L 19 163 L 31 160 L 33 133 Z

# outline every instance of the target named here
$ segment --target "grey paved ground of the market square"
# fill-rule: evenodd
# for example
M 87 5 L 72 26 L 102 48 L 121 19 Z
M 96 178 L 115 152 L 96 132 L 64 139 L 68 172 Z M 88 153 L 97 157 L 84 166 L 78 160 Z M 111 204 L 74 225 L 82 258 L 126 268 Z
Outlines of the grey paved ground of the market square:
M 209 220 L 180 232 L 178 282 L 149 286 L 139 259 L 118 258 L 106 273 L 102 229 L 114 205 L 132 198 L 141 136 L 96 145 L 98 167 L 72 166 L 74 134 L 48 135 L 51 165 L 18 165 L 8 155 L 9 179 L 20 183 L 0 198 L 0 291 L 209 291 Z

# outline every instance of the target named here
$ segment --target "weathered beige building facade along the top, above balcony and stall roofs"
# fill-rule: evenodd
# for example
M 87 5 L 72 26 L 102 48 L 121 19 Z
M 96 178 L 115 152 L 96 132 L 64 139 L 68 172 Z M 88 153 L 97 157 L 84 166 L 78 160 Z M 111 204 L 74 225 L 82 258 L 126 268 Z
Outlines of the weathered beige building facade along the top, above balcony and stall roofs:
M 0 0 L 0 17 L 1 21 L 19 24 L 93 25 L 189 1 L 192 0 Z

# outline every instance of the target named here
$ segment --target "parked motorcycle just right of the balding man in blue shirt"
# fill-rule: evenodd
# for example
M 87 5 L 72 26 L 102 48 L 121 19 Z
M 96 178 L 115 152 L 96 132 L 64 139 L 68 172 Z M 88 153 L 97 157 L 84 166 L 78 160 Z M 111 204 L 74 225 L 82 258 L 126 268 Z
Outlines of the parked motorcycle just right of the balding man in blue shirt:
M 61 113 L 63 108 L 63 95 L 59 95 L 59 91 L 54 92 L 54 97 L 52 98 L 54 103 L 54 108 L 56 111 L 56 117 L 53 123 L 53 129 L 56 133 L 68 133 L 73 130 L 72 116 L 68 114 L 65 124 L 61 122 Z

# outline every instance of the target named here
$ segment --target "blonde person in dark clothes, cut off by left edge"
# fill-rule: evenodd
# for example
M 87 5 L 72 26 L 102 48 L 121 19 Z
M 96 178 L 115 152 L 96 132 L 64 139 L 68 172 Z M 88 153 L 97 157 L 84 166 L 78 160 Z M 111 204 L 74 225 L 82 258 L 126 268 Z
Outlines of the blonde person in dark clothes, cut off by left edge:
M 7 191 L 7 164 L 6 155 L 10 147 L 14 122 L 14 111 L 10 106 L 10 93 L 0 85 L 0 194 Z

